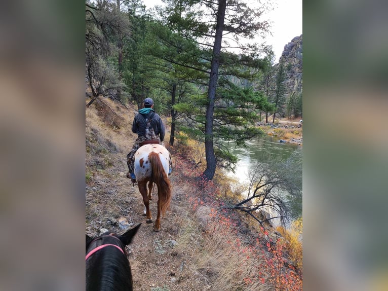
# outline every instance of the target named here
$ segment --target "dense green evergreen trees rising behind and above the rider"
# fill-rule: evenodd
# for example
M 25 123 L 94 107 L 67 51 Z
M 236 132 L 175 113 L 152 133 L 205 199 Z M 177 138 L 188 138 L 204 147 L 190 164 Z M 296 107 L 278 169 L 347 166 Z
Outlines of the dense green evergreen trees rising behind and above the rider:
M 285 66 L 274 70 L 270 47 L 244 44 L 268 31 L 259 20 L 264 7 L 243 0 L 164 3 L 156 12 L 139 0 L 86 3 L 89 104 L 104 96 L 141 108 L 151 97 L 171 117 L 170 145 L 180 135 L 205 143 L 204 177 L 212 179 L 217 165 L 234 169 L 237 162 L 223 142 L 244 147 L 261 134 L 262 112 L 266 119 L 282 112 Z M 298 98 L 288 102 L 294 115 L 301 114 Z

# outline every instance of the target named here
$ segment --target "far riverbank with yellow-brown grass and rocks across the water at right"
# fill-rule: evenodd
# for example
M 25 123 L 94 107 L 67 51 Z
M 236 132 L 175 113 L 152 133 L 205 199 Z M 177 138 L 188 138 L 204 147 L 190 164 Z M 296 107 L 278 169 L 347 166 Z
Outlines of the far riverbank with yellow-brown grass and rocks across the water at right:
M 275 123 L 261 122 L 257 125 L 280 143 L 303 144 L 303 125 L 300 121 L 275 120 Z

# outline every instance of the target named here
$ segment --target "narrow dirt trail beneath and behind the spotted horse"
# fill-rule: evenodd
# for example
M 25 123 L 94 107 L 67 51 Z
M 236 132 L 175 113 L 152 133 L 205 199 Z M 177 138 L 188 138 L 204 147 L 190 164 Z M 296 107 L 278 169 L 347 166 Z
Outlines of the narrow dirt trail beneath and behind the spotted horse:
M 162 219 L 162 230 L 154 232 L 153 224 L 146 224 L 142 216 L 144 204 L 137 188 L 133 187 L 133 221 L 142 226 L 130 246 L 129 261 L 132 268 L 135 290 L 174 291 L 206 290 L 204 277 L 190 268 L 195 253 L 182 252 L 179 247 L 179 233 L 187 210 L 182 208 L 184 193 L 179 189 L 177 179 L 172 175 L 173 195 L 170 211 Z M 132 183 L 130 188 L 132 190 Z M 132 192 L 132 191 L 131 191 Z M 157 215 L 157 189 L 153 190 L 150 210 L 153 221 Z M 205 288 L 204 288 L 205 286 Z

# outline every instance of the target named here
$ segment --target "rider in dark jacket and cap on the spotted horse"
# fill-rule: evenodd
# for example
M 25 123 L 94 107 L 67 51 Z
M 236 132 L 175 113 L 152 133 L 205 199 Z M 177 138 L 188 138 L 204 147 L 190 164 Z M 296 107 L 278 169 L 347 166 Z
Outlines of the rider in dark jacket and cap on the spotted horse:
M 145 98 L 143 101 L 144 108 L 140 109 L 133 119 L 132 132 L 138 135 L 131 152 L 127 155 L 127 164 L 129 172 L 128 178 L 131 178 L 133 183 L 136 182 L 136 176 L 134 170 L 134 159 L 137 149 L 140 148 L 141 143 L 144 141 L 147 143 L 159 143 L 163 144 L 165 136 L 165 127 L 160 116 L 153 110 L 153 100 L 151 98 Z M 150 126 L 147 126 L 147 123 Z M 171 173 L 171 157 L 170 157 L 170 170 Z

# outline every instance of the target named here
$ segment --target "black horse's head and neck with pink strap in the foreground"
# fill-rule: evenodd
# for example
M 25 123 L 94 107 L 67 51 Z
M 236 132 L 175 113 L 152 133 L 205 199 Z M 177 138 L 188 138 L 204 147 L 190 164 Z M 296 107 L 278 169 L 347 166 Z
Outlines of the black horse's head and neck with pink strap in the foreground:
M 106 232 L 86 235 L 86 290 L 132 291 L 132 274 L 125 246 L 130 244 L 141 223 L 123 235 Z

